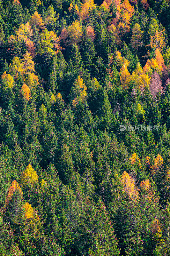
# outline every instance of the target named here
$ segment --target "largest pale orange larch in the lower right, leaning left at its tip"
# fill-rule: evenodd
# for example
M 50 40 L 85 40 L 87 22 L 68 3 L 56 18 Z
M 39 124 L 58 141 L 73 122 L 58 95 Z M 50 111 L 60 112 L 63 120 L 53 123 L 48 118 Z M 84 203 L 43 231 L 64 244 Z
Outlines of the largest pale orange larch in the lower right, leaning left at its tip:
M 139 192 L 137 191 L 135 182 L 126 171 L 122 173 L 120 181 L 124 185 L 124 192 L 129 195 L 129 198 L 137 198 Z

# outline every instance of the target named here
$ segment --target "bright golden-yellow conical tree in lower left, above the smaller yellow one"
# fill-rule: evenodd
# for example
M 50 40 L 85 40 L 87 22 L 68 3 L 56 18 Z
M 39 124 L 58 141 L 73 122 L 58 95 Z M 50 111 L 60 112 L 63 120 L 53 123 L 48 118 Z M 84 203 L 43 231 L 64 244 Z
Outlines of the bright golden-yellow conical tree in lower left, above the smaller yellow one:
M 37 173 L 34 171 L 33 167 L 28 164 L 25 171 L 21 173 L 21 183 L 26 183 L 29 181 L 30 183 L 34 184 L 35 182 L 38 182 L 38 176 Z

